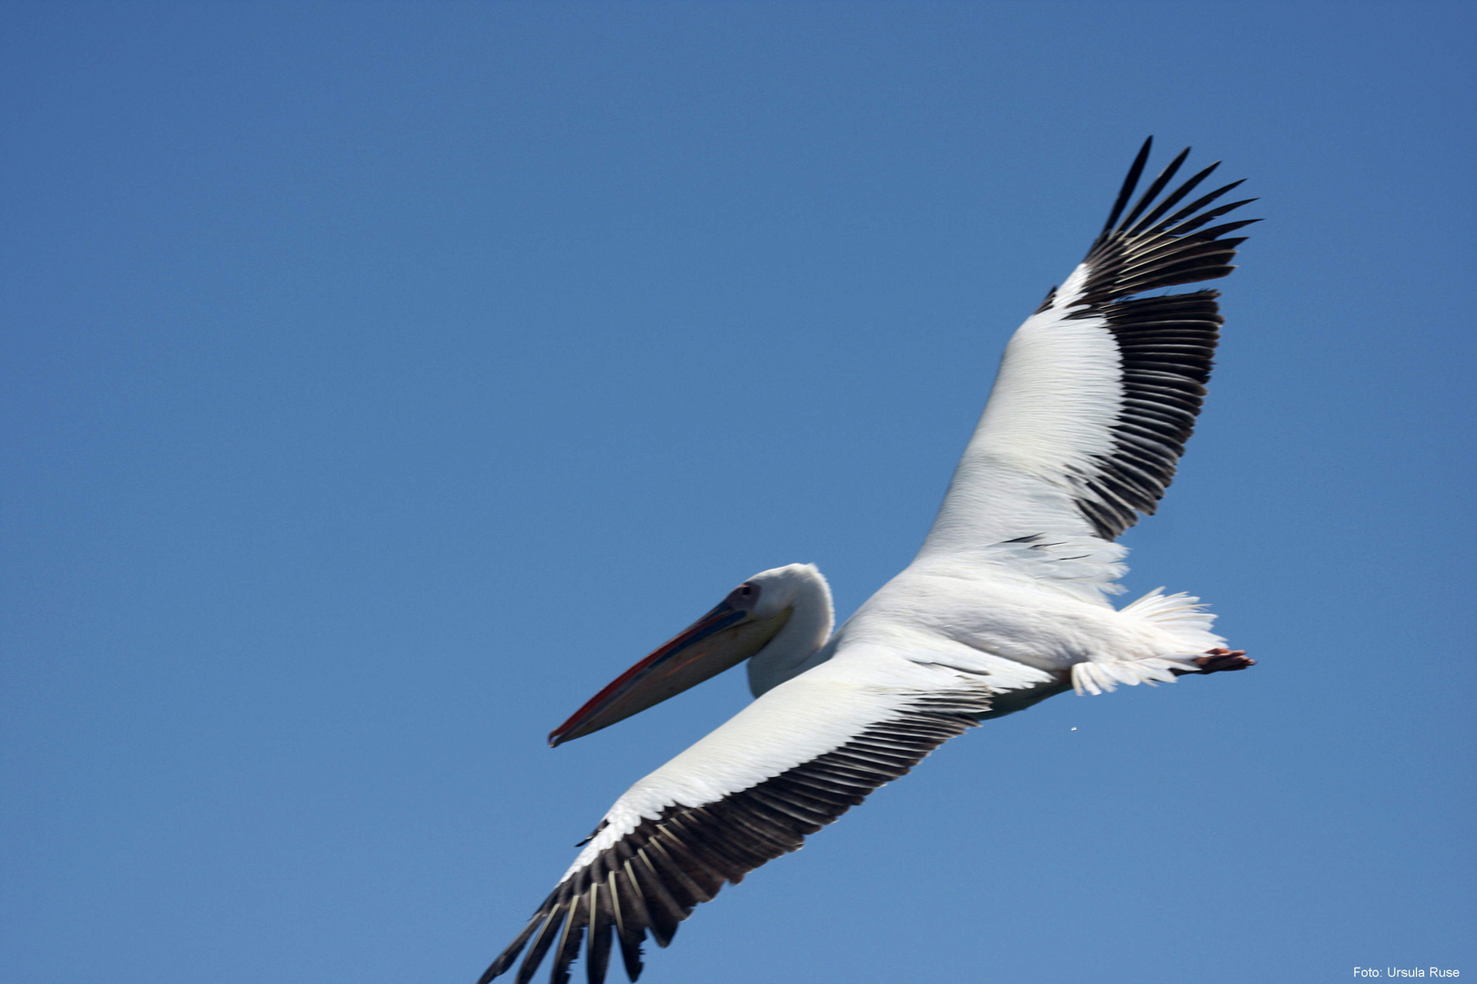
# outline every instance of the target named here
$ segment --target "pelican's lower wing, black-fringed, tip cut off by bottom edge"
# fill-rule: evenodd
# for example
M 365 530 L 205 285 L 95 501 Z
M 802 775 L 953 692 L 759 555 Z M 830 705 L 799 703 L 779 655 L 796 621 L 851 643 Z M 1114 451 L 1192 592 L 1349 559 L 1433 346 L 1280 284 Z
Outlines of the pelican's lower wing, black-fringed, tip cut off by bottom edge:
M 877 786 L 907 773 L 990 708 L 990 689 L 885 692 L 826 664 L 770 690 L 737 717 L 634 785 L 533 919 L 479 984 L 527 947 L 517 983 L 551 952 L 551 981 L 606 980 L 611 943 L 626 975 L 641 972 L 647 934 L 666 946 L 676 924 L 725 882 L 801 847 Z

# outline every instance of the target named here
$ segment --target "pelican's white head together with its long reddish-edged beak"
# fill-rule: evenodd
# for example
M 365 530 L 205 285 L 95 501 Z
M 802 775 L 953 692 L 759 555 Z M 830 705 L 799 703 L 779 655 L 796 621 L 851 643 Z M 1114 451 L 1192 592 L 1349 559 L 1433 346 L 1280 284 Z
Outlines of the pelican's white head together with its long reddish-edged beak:
M 832 621 L 830 587 L 815 565 L 787 564 L 755 574 L 575 711 L 549 733 L 549 745 L 610 727 L 753 656 L 781 673 L 798 667 L 826 642 Z M 755 682 L 755 692 L 774 683 Z

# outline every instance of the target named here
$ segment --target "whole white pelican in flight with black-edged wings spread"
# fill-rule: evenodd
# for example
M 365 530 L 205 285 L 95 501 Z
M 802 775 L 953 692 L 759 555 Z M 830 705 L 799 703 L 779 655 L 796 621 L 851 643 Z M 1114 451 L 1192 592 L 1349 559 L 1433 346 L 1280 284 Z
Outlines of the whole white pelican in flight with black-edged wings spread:
M 1154 590 L 1115 609 L 1114 543 L 1174 477 L 1223 323 L 1216 291 L 1134 297 L 1223 277 L 1251 221 L 1210 226 L 1241 181 L 1180 207 L 1211 164 L 1159 198 L 1186 148 L 1130 207 L 1139 150 L 1087 258 L 1006 345 L 994 389 L 917 558 L 832 631 L 809 564 L 755 574 L 549 735 L 609 727 L 749 661 L 753 704 L 637 782 L 479 984 L 552 950 L 569 981 L 580 943 L 601 984 L 611 937 L 626 975 L 641 943 L 724 882 L 801 847 L 868 792 L 979 721 L 1068 689 L 1242 670 L 1199 599 Z M 1207 227 L 1208 226 L 1208 227 Z

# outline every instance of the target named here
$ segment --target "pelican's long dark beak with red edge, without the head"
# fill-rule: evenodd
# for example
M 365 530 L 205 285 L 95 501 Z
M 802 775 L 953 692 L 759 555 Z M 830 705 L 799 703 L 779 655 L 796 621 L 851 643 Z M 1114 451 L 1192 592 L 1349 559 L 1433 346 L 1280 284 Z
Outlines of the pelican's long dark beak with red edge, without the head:
M 675 639 L 631 667 L 549 733 L 549 748 L 583 738 L 694 687 L 764 649 L 793 609 L 756 618 L 722 602 Z

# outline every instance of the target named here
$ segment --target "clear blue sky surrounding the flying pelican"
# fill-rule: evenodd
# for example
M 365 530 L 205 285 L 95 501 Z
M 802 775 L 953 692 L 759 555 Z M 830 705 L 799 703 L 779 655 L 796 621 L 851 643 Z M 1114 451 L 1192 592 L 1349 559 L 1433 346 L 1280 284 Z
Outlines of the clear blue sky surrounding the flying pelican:
M 470 983 L 911 556 L 1146 134 L 1260 195 L 1128 586 L 1260 664 L 951 742 L 644 980 L 1477 974 L 1468 4 L 0 10 L 3 977 Z M 1075 729 L 1075 730 L 1072 730 Z

